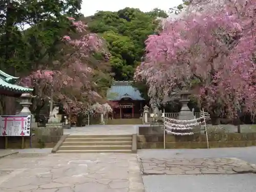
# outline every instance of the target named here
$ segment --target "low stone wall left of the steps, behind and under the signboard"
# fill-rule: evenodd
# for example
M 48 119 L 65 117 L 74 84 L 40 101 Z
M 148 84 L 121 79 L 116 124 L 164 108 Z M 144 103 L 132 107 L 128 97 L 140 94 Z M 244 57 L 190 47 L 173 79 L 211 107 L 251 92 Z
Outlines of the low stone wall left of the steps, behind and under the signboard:
M 31 137 L 24 137 L 24 148 L 52 148 L 63 135 L 62 127 L 37 127 L 33 128 Z M 31 145 L 31 146 L 30 146 Z M 8 148 L 21 148 L 22 137 L 8 137 Z M 0 137 L 0 148 L 5 148 L 5 138 Z

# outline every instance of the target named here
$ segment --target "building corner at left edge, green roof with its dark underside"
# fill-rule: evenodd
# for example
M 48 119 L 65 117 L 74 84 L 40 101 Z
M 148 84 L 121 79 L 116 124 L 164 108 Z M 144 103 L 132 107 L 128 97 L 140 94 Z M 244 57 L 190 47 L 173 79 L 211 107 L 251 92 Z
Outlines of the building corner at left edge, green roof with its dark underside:
M 30 93 L 33 89 L 14 84 L 19 77 L 13 77 L 0 70 L 0 95 L 20 97 L 23 93 Z

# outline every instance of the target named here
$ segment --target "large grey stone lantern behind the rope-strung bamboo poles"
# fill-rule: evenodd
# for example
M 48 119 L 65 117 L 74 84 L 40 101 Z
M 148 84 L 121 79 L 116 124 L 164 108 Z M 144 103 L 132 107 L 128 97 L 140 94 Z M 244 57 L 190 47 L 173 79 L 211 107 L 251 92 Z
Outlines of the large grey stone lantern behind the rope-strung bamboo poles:
M 182 103 L 182 108 L 179 113 L 179 120 L 190 120 L 194 119 L 194 113 L 190 111 L 190 109 L 187 106 L 187 103 L 189 102 L 188 96 L 190 95 L 189 91 L 182 91 L 180 92 L 181 100 L 180 102 Z

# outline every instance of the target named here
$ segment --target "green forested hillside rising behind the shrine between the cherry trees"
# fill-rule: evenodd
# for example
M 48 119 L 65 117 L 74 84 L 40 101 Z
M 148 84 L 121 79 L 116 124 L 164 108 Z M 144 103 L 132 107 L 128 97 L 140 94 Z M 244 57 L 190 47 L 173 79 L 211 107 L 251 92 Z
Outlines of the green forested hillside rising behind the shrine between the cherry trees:
M 134 70 L 144 55 L 144 41 L 156 32 L 157 17 L 165 18 L 167 14 L 159 9 L 144 13 L 125 8 L 117 12 L 99 11 L 87 18 L 89 30 L 108 42 L 116 80 L 133 79 Z

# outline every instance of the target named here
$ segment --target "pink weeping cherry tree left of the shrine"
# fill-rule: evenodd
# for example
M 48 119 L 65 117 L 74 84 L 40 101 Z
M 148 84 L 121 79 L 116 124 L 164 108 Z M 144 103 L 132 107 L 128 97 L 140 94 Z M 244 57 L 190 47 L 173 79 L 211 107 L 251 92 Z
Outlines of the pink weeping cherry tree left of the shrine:
M 101 63 L 95 67 L 92 55 L 100 53 L 108 60 L 110 54 L 105 49 L 104 41 L 89 33 L 86 25 L 76 22 L 74 18 L 69 19 L 77 33 L 72 34 L 73 37 L 63 36 L 65 46 L 61 57 L 49 65 L 49 69 L 42 67 L 24 77 L 21 83 L 33 87 L 39 99 L 49 100 L 52 97 L 60 101 L 68 113 L 78 113 L 103 100 L 94 79 L 95 74 L 100 74 Z M 105 71 L 105 66 L 103 68 Z

